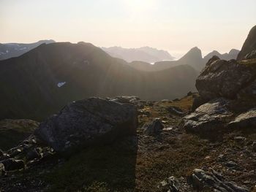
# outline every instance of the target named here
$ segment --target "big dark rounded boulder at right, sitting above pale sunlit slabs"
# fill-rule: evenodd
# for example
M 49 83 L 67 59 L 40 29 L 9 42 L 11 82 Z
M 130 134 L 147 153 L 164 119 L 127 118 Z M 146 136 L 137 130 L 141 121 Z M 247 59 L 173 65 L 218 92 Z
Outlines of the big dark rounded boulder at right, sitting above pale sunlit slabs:
M 225 97 L 236 99 L 238 92 L 256 79 L 256 63 L 211 58 L 196 80 L 196 88 L 205 100 Z

